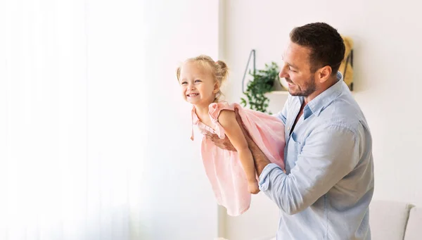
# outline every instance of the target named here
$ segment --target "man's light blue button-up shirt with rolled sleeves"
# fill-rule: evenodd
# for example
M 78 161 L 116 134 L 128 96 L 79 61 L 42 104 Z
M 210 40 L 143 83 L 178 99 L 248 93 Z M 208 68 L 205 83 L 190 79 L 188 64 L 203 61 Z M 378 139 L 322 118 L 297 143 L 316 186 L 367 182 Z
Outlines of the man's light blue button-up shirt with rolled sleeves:
M 279 118 L 286 125 L 286 174 L 274 163 L 260 189 L 280 208 L 277 240 L 371 239 L 372 138 L 343 77 L 309 101 L 288 96 Z

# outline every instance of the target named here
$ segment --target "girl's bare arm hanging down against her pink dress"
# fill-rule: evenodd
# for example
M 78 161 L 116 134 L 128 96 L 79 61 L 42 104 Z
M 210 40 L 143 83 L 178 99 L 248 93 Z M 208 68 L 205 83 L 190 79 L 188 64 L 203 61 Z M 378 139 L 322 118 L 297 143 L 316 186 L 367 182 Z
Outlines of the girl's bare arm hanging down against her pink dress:
M 255 163 L 248 146 L 248 141 L 246 141 L 245 135 L 243 135 L 242 129 L 236 121 L 234 111 L 222 110 L 219 114 L 218 121 L 224 128 L 224 132 L 231 141 L 231 144 L 233 144 L 238 152 L 243 169 L 245 170 L 246 178 L 248 179 L 250 192 L 252 194 L 257 193 L 259 189 L 255 174 Z

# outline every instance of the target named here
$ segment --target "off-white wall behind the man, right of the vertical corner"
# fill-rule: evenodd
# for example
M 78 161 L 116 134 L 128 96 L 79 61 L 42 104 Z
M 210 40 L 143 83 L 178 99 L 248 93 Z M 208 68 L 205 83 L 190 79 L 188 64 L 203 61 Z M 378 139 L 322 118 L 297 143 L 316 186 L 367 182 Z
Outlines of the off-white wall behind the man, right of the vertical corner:
M 416 1 L 252 1 L 225 4 L 224 54 L 231 68 L 226 95 L 241 97 L 241 78 L 250 49 L 257 67 L 276 61 L 295 26 L 324 21 L 354 39 L 354 96 L 373 134 L 375 199 L 409 201 L 422 206 L 421 106 L 422 16 Z M 271 96 L 281 110 L 286 96 Z M 278 101 L 278 102 L 276 102 Z M 248 240 L 275 232 L 277 209 L 265 196 L 251 210 L 226 218 L 230 240 Z M 259 227 L 258 227 L 259 226 Z M 271 232 L 273 231 L 273 232 Z

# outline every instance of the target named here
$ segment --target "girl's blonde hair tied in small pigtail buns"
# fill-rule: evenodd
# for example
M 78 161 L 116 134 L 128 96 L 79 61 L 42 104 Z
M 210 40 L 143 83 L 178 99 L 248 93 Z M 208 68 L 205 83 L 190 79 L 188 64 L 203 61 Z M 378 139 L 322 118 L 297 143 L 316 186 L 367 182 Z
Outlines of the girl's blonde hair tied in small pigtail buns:
M 214 76 L 215 81 L 219 83 L 219 87 L 226 81 L 227 76 L 229 75 L 229 68 L 224 61 L 214 61 L 210 56 L 200 55 L 195 58 L 188 58 L 185 63 L 199 63 L 203 65 L 205 68 L 209 68 L 212 71 L 212 75 Z M 181 67 L 177 68 L 176 75 L 177 80 L 180 81 L 180 69 Z M 219 90 L 215 96 L 215 99 L 218 100 L 219 97 L 222 96 L 222 91 Z

